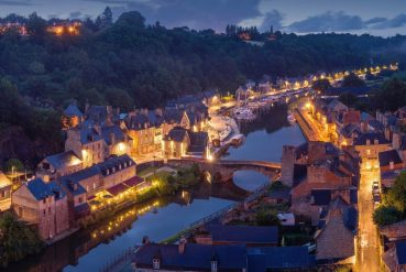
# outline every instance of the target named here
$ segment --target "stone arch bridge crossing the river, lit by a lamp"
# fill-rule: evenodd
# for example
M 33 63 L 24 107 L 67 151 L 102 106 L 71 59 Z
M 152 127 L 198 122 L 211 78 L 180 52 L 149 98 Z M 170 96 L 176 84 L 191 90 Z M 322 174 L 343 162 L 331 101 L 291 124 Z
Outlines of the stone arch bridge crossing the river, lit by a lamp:
M 264 174 L 270 181 L 275 181 L 281 176 L 281 163 L 265 161 L 237 161 L 237 160 L 204 160 L 204 159 L 180 159 L 168 160 L 169 166 L 199 165 L 199 168 L 209 175 L 212 182 L 227 182 L 232 179 L 234 172 L 251 170 Z

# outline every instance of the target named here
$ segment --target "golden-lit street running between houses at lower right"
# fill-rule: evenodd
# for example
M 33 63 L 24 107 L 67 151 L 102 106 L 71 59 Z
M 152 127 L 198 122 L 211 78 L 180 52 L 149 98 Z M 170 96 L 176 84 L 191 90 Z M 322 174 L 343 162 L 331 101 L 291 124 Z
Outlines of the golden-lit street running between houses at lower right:
M 380 178 L 378 170 L 366 170 L 361 166 L 359 188 L 359 239 L 356 250 L 356 271 L 380 271 L 380 240 L 372 214 L 372 183 Z

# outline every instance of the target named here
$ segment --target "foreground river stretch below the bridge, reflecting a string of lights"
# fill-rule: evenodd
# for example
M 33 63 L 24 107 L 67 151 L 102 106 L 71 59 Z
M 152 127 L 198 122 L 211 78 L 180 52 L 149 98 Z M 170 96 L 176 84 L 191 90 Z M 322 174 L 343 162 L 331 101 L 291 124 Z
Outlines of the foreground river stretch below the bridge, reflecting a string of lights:
M 232 182 L 213 185 L 201 183 L 186 191 L 186 194 L 134 205 L 4 271 L 99 271 L 120 252 L 141 242 L 143 236 L 154 241 L 163 240 L 248 195 L 248 191 Z M 153 213 L 155 208 L 156 213 Z

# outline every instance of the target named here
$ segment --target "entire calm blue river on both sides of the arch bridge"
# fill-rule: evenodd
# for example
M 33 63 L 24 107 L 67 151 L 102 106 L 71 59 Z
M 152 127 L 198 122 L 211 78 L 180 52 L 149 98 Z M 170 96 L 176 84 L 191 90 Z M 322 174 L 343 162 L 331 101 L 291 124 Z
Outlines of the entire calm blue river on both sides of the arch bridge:
M 305 141 L 299 128 L 289 126 L 286 115 L 286 106 L 275 106 L 262 111 L 256 120 L 240 123 L 245 143 L 230 149 L 226 159 L 279 162 L 284 144 L 296 145 Z M 161 241 L 191 222 L 243 199 L 245 191 L 254 191 L 266 182 L 267 178 L 260 173 L 239 171 L 234 173 L 233 184 L 202 184 L 176 197 L 129 208 L 111 221 L 75 233 L 48 247 L 40 255 L 29 257 L 10 266 L 8 271 L 100 271 L 119 253 L 140 243 L 144 236 L 152 241 Z M 156 207 L 155 210 L 153 207 Z

